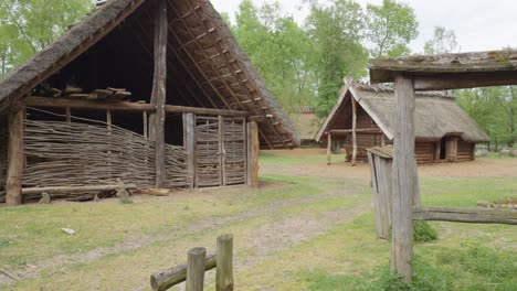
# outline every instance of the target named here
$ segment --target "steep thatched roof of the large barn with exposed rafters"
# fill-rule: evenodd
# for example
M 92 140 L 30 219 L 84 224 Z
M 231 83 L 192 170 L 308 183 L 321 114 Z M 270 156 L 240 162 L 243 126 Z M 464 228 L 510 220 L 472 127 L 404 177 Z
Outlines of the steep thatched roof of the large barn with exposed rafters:
M 261 116 L 261 144 L 294 148 L 296 131 L 208 0 L 165 0 L 168 3 L 168 100 L 205 108 L 249 111 Z M 155 0 L 109 0 L 70 29 L 52 45 L 0 79 L 0 111 L 27 96 L 49 77 L 80 66 L 80 58 L 112 62 L 125 56 L 117 74 L 124 86 L 140 86 L 152 72 Z M 92 56 L 91 56 L 92 55 Z M 91 63 L 91 62 L 89 62 Z M 103 74 L 105 72 L 102 72 Z M 109 76 L 112 77 L 112 76 Z M 113 77 L 116 78 L 116 77 Z M 119 77 L 122 79 L 123 77 Z M 147 83 L 134 91 L 150 95 Z M 170 93 L 170 94 L 169 94 Z M 170 96 L 169 96 L 170 95 Z

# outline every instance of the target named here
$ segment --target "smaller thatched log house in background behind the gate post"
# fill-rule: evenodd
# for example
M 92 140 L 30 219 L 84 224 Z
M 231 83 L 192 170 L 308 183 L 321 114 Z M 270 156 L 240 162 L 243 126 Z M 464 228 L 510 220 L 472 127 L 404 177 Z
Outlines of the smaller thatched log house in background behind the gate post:
M 395 98 L 391 87 L 347 82 L 316 140 L 341 140 L 348 160 L 368 161 L 367 149 L 392 144 Z M 443 91 L 416 93 L 415 158 L 418 163 L 475 159 L 475 144 L 488 136 Z

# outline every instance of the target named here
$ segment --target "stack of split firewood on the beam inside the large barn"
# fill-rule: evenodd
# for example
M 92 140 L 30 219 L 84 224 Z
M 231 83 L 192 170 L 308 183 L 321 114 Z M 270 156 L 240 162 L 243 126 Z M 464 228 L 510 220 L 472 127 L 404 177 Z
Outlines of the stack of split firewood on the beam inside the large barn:
M 85 93 L 84 89 L 68 86 L 63 90 L 53 88 L 51 86 L 40 86 L 35 93 L 36 96 L 43 97 L 54 97 L 54 98 L 68 98 L 68 99 L 84 99 L 84 100 L 112 100 L 112 101 L 123 101 L 131 93 L 125 88 L 106 88 L 106 89 L 95 89 L 92 93 Z

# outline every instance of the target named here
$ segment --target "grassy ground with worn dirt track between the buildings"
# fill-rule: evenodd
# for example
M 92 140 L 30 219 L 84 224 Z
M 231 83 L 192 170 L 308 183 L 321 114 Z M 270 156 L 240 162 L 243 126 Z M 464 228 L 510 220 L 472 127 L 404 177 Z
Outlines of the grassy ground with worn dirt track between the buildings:
M 454 166 L 421 169 L 425 205 L 475 207 L 517 196 L 517 159 L 464 163 L 461 173 Z M 497 171 L 484 177 L 476 166 Z M 226 233 L 234 235 L 236 290 L 384 290 L 393 283 L 390 244 L 374 235 L 367 165 L 351 170 L 340 161 L 327 166 L 310 152 L 266 152 L 261 182 L 260 190 L 136 196 L 134 203 L 0 208 L 0 268 L 19 277 L 0 273 L 0 289 L 148 290 L 150 273 L 184 263 L 191 247 L 213 252 L 215 237 Z M 517 290 L 515 226 L 432 226 L 439 240 L 414 250 L 415 290 Z M 213 290 L 212 272 L 207 281 Z

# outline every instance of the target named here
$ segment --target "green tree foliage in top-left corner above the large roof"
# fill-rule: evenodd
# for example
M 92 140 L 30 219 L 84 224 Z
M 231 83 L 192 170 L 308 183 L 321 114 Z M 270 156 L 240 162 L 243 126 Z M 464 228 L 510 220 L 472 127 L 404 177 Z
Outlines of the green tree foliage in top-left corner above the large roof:
M 6 74 L 51 44 L 93 8 L 92 0 L 3 0 L 0 61 Z

